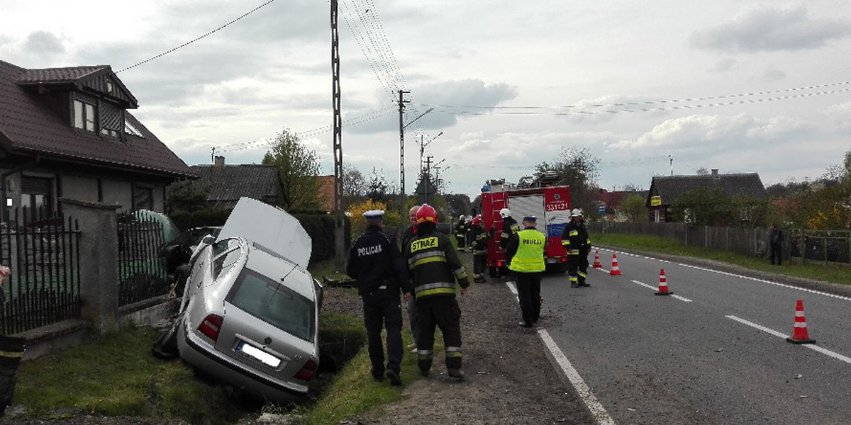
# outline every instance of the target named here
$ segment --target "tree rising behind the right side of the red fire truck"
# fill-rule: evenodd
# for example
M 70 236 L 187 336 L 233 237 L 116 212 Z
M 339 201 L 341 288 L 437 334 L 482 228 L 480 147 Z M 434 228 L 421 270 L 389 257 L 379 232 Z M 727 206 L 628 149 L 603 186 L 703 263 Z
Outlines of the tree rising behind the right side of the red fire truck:
M 594 192 L 597 190 L 597 177 L 600 175 L 600 159 L 591 154 L 588 148 L 562 148 L 561 154 L 553 162 L 540 162 L 535 165 L 539 173 L 555 171 L 559 174 L 556 184 L 570 186 L 570 204 L 583 208 L 585 212 L 595 213 L 591 206 Z

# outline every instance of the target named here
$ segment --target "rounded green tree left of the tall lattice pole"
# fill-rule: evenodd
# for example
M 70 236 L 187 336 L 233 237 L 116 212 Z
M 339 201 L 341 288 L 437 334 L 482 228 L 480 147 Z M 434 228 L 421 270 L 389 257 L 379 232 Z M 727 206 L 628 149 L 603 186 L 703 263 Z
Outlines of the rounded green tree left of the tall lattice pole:
M 319 207 L 319 156 L 315 150 L 307 149 L 297 134 L 287 129 L 277 133 L 271 149 L 263 157 L 263 165 L 277 167 L 283 186 L 282 207 L 288 210 Z

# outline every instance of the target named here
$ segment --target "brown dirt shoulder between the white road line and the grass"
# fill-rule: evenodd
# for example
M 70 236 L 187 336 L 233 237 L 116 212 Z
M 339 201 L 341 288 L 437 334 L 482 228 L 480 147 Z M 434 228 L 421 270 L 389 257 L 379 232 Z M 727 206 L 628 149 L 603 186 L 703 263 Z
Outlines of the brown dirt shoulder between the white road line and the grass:
M 447 377 L 436 352 L 431 377 L 408 384 L 405 399 L 348 423 L 593 423 L 537 333 L 518 326 L 520 307 L 505 284 L 491 278 L 459 299 L 465 382 Z M 553 317 L 544 303 L 539 326 Z

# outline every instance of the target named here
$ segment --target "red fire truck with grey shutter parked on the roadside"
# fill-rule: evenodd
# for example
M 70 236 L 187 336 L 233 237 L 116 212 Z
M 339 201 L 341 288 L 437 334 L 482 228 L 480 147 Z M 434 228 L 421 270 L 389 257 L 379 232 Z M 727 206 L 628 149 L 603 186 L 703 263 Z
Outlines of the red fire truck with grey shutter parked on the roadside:
M 549 180 L 555 180 L 548 175 Z M 568 252 L 562 246 L 562 232 L 570 221 L 570 188 L 546 185 L 546 178 L 538 178 L 529 184 L 533 187 L 518 188 L 505 184 L 505 180 L 490 180 L 482 187 L 482 219 L 484 231 L 488 232 L 488 275 L 505 275 L 505 251 L 500 246 L 502 218 L 500 210 L 508 208 L 511 217 L 520 223 L 523 217 L 535 216 L 535 226 L 546 235 L 544 257 L 547 270 L 567 270 Z M 524 184 L 526 186 L 527 184 Z M 523 224 L 521 224 L 523 225 Z

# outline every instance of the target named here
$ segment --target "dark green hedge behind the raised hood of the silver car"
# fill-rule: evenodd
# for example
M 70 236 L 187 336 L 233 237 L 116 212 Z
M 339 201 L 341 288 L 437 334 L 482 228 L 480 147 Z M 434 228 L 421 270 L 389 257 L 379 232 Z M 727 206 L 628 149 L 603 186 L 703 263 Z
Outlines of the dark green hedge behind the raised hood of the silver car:
M 325 212 L 292 212 L 293 217 L 311 236 L 311 263 L 334 258 L 334 215 Z M 229 209 L 206 209 L 196 212 L 174 211 L 169 217 L 181 231 L 203 226 L 223 226 L 231 215 Z M 351 221 L 346 217 L 344 246 L 351 246 Z

